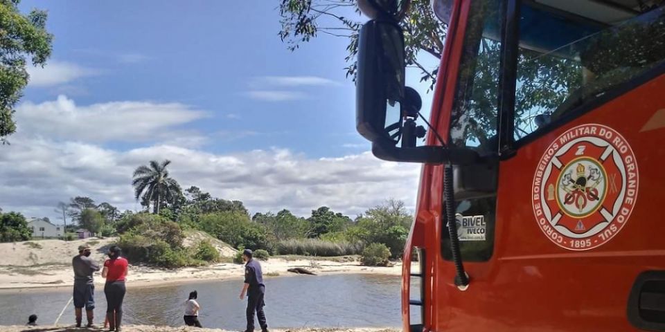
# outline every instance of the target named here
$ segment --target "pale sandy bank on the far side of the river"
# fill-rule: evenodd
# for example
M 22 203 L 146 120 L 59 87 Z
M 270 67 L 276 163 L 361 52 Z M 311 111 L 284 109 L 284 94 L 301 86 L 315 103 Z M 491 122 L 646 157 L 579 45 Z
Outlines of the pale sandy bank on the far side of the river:
M 201 236 L 197 234 L 195 236 Z M 71 286 L 73 271 L 71 258 L 78 253 L 78 246 L 88 243 L 93 248 L 92 257 L 103 263 L 105 250 L 116 239 L 85 239 L 76 241 L 42 240 L 16 243 L 0 243 L 0 289 L 39 288 Z M 194 243 L 188 237 L 186 245 Z M 233 256 L 236 252 L 225 243 L 213 243 L 222 256 Z M 390 267 L 368 267 L 360 265 L 357 257 L 271 257 L 261 261 L 265 277 L 295 275 L 287 270 L 305 268 L 317 275 L 332 273 L 375 273 L 400 275 L 401 264 Z M 161 269 L 149 266 L 130 266 L 127 287 L 157 286 L 179 282 L 204 281 L 210 279 L 240 279 L 243 268 L 240 264 L 220 263 L 196 268 Z M 95 282 L 103 284 L 97 275 Z

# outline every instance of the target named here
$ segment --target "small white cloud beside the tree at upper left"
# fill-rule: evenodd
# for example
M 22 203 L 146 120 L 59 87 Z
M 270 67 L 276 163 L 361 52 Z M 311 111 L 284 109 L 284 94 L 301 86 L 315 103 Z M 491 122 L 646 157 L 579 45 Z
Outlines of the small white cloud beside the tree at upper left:
M 27 70 L 30 75 L 28 86 L 37 87 L 56 86 L 99 74 L 95 69 L 55 60 L 49 61 L 44 68 L 30 65 Z

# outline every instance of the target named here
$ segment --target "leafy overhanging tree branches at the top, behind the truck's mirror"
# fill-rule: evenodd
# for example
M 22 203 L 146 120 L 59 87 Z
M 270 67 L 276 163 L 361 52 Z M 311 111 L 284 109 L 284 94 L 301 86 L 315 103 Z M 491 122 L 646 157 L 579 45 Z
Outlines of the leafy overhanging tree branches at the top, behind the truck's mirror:
M 279 37 L 290 50 L 295 50 L 302 42 L 309 42 L 318 33 L 348 38 L 346 62 L 349 66 L 346 67 L 346 76 L 355 79 L 355 55 L 358 52 L 358 33 L 362 27 L 356 0 L 281 0 L 279 12 L 282 25 Z M 420 80 L 434 86 L 438 68 L 427 70 L 418 62 L 418 55 L 424 51 L 441 58 L 445 24 L 441 24 L 434 16 L 430 0 L 413 0 L 400 26 L 405 34 L 407 66 L 420 68 L 423 73 Z

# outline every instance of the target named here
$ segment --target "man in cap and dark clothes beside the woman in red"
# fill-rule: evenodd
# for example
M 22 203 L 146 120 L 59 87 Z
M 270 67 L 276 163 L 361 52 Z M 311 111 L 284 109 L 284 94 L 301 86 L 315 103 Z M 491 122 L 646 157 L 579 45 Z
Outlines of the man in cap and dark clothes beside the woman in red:
M 95 308 L 95 285 L 92 274 L 99 270 L 99 265 L 90 258 L 90 246 L 84 244 L 78 246 L 78 255 L 71 259 L 74 269 L 74 313 L 76 315 L 76 327 L 81 327 L 82 309 L 88 319 L 88 327 L 93 326 Z

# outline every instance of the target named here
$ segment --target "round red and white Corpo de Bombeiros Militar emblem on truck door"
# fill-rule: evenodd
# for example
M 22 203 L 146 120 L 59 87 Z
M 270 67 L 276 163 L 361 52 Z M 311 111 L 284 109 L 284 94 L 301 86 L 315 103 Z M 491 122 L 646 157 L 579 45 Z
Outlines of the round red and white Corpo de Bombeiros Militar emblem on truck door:
M 610 241 L 637 199 L 639 172 L 628 141 L 602 124 L 574 127 L 540 158 L 533 176 L 533 213 L 548 239 L 569 250 Z

